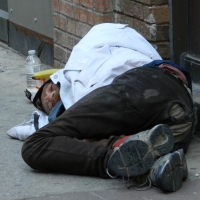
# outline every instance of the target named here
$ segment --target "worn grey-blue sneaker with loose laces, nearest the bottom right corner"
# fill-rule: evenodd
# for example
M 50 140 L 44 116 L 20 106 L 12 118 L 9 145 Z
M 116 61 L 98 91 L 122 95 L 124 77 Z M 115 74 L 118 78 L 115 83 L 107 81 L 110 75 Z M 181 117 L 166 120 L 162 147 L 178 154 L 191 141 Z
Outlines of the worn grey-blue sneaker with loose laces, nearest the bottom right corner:
M 154 186 L 169 192 L 179 190 L 187 177 L 188 169 L 183 149 L 160 157 L 149 173 Z

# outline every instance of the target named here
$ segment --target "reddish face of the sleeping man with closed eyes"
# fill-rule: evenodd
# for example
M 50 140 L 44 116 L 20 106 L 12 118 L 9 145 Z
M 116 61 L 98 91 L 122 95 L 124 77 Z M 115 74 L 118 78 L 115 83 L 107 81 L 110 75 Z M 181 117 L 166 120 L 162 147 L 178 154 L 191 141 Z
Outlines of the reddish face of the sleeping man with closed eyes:
M 52 108 L 56 105 L 56 103 L 60 100 L 58 85 L 50 82 L 46 84 L 42 90 L 41 101 L 43 108 L 47 114 L 50 113 Z

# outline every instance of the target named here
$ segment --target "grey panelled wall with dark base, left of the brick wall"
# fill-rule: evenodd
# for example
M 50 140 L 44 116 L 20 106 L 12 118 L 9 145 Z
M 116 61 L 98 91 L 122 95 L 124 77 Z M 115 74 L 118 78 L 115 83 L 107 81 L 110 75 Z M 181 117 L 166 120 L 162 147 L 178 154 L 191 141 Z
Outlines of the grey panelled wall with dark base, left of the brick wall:
M 0 0 L 0 41 L 27 55 L 35 49 L 53 66 L 52 0 Z

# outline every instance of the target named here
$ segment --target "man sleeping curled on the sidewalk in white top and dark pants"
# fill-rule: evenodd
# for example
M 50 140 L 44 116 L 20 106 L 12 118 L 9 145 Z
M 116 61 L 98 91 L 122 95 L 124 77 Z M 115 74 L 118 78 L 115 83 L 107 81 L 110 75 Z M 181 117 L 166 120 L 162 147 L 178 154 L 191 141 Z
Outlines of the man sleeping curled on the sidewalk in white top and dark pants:
M 33 103 L 49 117 L 22 147 L 33 169 L 144 176 L 166 191 L 187 178 L 196 125 L 189 74 L 128 25 L 94 26 Z

